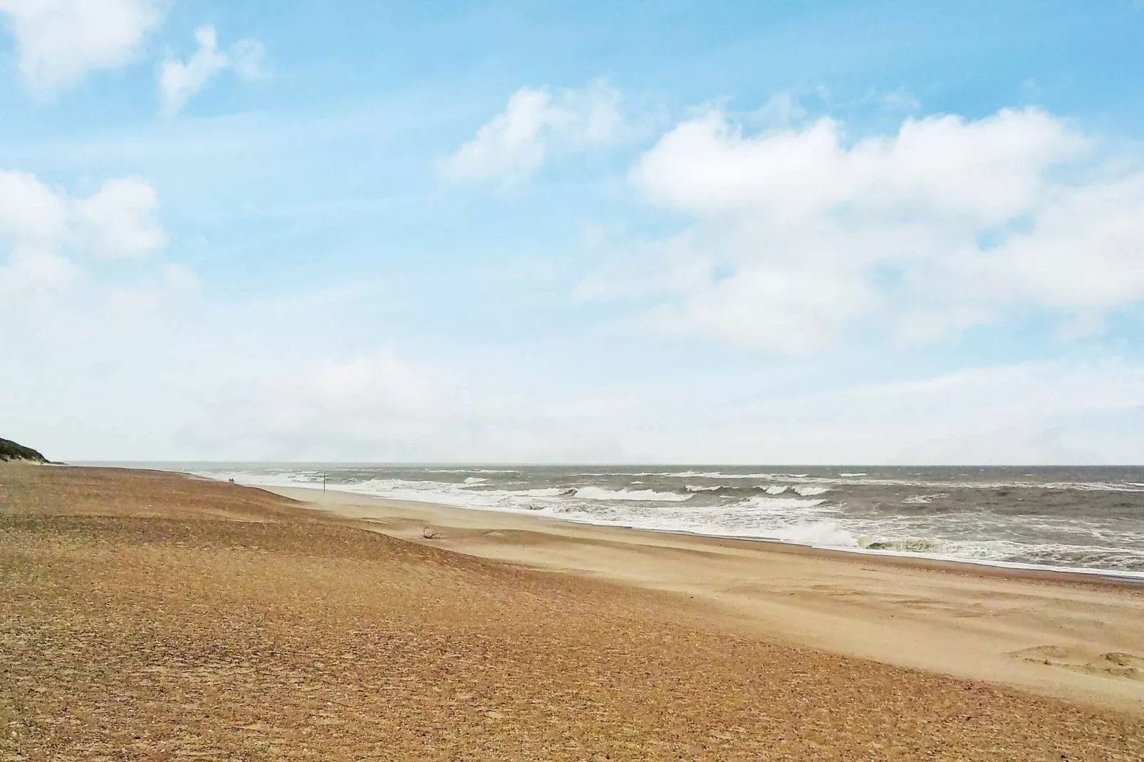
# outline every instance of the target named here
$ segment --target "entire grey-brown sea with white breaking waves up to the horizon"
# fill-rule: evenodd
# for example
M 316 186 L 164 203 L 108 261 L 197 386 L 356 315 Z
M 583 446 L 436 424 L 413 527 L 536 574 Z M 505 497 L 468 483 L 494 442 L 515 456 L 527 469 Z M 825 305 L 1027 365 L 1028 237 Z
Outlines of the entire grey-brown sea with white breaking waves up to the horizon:
M 1141 467 L 162 463 L 589 524 L 1144 579 Z

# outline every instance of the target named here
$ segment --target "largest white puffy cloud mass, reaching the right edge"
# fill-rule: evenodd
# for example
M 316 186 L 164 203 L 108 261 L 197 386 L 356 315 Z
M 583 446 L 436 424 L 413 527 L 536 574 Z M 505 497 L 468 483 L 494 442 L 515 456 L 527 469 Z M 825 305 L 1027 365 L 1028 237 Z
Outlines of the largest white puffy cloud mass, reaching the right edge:
M 934 341 L 1031 310 L 1093 324 L 1144 300 L 1144 172 L 1107 170 L 1096 144 L 1035 109 L 859 140 L 827 118 L 758 134 L 722 112 L 684 121 L 630 180 L 692 221 L 664 244 L 692 277 L 638 320 L 779 352 L 879 325 Z

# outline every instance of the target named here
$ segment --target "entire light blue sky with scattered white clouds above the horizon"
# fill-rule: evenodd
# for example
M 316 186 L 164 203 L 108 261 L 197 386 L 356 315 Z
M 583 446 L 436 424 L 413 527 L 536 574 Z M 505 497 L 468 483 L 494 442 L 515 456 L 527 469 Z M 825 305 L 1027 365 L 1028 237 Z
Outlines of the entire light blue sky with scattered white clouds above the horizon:
M 0 0 L 0 436 L 1144 462 L 1138 0 Z

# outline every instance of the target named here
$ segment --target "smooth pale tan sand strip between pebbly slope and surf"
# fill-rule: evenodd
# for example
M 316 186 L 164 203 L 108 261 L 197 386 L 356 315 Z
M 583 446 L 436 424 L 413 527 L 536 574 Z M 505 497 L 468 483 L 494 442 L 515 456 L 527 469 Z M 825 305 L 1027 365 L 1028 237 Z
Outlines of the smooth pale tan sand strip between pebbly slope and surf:
M 1134 580 L 263 490 L 418 545 L 674 594 L 729 632 L 1144 712 Z

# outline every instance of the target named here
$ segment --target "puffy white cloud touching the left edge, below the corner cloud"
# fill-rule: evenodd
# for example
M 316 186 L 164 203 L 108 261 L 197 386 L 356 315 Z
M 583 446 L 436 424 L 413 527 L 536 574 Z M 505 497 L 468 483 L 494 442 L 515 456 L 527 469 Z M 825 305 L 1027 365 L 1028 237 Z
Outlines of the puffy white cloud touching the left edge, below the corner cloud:
M 166 246 L 154 190 L 137 177 L 72 198 L 32 174 L 0 172 L 0 295 L 5 307 L 57 292 L 82 272 L 74 256 L 137 259 Z

